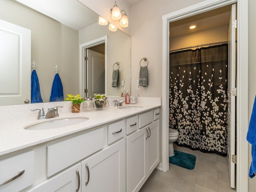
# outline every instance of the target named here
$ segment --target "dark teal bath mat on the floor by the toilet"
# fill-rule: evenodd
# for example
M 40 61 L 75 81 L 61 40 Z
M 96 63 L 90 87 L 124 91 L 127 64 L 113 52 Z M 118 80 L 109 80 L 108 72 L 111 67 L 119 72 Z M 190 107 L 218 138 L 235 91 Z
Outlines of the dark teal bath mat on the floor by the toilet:
M 171 164 L 192 170 L 195 168 L 196 156 L 174 150 L 174 156 L 169 157 Z

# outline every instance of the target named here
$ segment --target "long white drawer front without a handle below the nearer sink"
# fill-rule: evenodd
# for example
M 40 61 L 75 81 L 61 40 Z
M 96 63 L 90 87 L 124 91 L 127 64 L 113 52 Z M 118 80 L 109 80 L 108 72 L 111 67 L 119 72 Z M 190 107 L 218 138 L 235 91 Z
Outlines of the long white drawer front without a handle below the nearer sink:
M 102 149 L 103 146 L 103 127 L 47 146 L 47 177 Z

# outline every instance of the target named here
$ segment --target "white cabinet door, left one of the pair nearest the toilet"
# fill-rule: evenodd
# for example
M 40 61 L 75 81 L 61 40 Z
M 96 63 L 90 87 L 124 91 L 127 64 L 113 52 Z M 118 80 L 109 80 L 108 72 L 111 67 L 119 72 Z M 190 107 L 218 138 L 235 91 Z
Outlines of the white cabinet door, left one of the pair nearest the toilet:
M 138 192 L 147 180 L 146 127 L 126 137 L 126 192 Z

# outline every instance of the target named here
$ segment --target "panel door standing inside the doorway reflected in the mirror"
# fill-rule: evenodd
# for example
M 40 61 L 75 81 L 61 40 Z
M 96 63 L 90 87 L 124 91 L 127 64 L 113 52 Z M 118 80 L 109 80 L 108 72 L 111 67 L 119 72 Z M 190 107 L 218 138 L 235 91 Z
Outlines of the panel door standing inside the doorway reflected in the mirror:
M 87 72 L 86 83 L 87 97 L 94 97 L 94 94 L 105 93 L 105 56 L 98 52 L 87 49 Z

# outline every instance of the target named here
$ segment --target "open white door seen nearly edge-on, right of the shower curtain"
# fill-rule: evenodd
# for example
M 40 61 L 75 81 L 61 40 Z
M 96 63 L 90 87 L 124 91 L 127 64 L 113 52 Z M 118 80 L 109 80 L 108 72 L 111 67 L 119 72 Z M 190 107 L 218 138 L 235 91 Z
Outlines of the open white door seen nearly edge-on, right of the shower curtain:
M 232 155 L 235 155 L 236 132 L 236 4 L 232 5 L 230 23 L 228 28 L 228 169 L 230 174 L 230 186 L 235 188 L 235 164 Z

